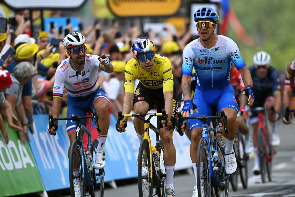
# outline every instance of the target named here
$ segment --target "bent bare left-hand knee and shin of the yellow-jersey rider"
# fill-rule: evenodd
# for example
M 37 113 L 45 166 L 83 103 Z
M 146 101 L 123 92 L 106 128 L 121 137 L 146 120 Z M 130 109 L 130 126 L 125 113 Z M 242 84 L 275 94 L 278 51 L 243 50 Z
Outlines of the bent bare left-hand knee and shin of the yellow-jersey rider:
M 145 102 L 145 101 L 136 102 L 134 105 L 134 113 L 135 114 L 147 113 L 148 108 L 149 108 L 149 104 L 147 102 Z M 142 117 L 142 118 L 145 119 L 145 117 Z M 135 128 L 136 133 L 138 133 L 139 135 L 144 134 L 144 128 L 143 128 L 144 126 L 143 126 L 142 120 L 135 117 L 133 119 L 133 124 L 134 124 L 134 128 Z

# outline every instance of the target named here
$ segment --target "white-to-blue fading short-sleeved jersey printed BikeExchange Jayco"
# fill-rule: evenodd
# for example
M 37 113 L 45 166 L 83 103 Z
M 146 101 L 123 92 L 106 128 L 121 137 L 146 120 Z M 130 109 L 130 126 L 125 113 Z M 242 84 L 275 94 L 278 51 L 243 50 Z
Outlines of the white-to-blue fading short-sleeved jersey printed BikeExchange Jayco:
M 199 38 L 186 45 L 182 56 L 182 74 L 197 74 L 200 91 L 224 89 L 230 84 L 230 64 L 238 70 L 246 66 L 237 44 L 230 38 L 218 35 L 217 43 L 211 49 L 204 48 Z

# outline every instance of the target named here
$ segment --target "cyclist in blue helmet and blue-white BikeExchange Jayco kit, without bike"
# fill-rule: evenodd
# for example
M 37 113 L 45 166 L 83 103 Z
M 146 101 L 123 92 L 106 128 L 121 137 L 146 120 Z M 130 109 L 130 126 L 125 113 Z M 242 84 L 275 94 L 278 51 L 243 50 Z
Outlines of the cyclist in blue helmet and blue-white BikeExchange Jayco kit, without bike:
M 237 44 L 223 35 L 214 33 L 218 22 L 217 12 L 210 7 L 201 7 L 194 14 L 199 38 L 186 45 L 183 50 L 181 87 L 184 97 L 183 116 L 212 115 L 212 106 L 227 115 L 229 134 L 225 136 L 225 171 L 232 174 L 237 169 L 233 143 L 237 132 L 237 112 L 239 107 L 235 100 L 235 92 L 230 84 L 230 64 L 233 62 L 241 73 L 244 84 L 243 94 L 248 96 L 248 104 L 253 105 L 252 78 Z M 197 87 L 194 99 L 191 100 L 191 75 L 193 67 L 197 74 Z M 193 110 L 193 105 L 197 109 Z M 196 177 L 196 159 L 199 141 L 202 138 L 202 123 L 189 120 L 191 129 L 190 154 Z M 197 183 L 197 181 L 196 181 Z M 194 187 L 193 196 L 198 196 Z

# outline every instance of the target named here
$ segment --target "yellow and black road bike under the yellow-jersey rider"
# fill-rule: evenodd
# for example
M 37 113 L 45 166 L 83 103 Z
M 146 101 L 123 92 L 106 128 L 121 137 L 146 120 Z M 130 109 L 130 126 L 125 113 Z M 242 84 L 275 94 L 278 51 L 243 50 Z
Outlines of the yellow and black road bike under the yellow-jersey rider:
M 145 116 L 149 116 L 145 120 Z M 157 116 L 157 127 L 150 123 L 150 119 Z M 145 113 L 145 114 L 122 114 L 118 112 L 117 128 L 122 124 L 124 117 L 137 117 L 144 122 L 144 136 L 140 143 L 138 152 L 138 192 L 140 197 L 151 197 L 157 195 L 158 197 L 165 197 L 166 172 L 164 165 L 164 147 L 159 143 L 159 116 L 163 116 L 165 126 L 167 128 L 167 114 L 165 110 L 162 113 Z M 152 143 L 150 141 L 149 130 L 153 130 L 156 134 L 156 151 L 157 158 L 152 154 Z M 118 131 L 119 129 L 117 129 Z M 155 160 L 157 159 L 157 160 Z M 155 165 L 157 163 L 157 165 Z M 153 194 L 155 188 L 155 194 Z

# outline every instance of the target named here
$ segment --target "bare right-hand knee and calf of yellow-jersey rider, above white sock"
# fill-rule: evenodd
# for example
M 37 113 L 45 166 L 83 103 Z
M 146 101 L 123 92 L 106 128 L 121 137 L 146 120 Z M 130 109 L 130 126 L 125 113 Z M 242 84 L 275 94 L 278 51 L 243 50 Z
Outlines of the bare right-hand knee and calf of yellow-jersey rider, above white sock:
M 173 166 L 176 163 L 176 149 L 172 139 L 173 130 L 166 131 L 164 128 L 160 128 L 159 134 L 165 148 L 164 163 L 166 166 Z

